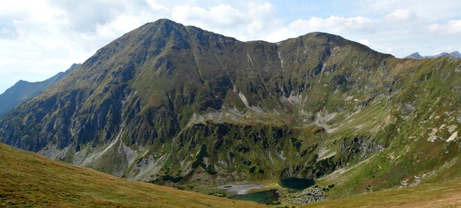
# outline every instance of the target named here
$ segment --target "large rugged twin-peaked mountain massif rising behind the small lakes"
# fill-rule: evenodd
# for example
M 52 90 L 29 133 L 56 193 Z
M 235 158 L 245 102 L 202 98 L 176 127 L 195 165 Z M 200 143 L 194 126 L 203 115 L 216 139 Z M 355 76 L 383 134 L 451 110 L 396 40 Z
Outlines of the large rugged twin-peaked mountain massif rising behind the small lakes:
M 240 42 L 161 19 L 16 107 L 0 138 L 136 180 L 310 177 L 339 196 L 459 172 L 460 71 L 326 33 Z

